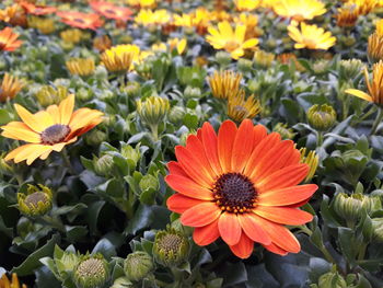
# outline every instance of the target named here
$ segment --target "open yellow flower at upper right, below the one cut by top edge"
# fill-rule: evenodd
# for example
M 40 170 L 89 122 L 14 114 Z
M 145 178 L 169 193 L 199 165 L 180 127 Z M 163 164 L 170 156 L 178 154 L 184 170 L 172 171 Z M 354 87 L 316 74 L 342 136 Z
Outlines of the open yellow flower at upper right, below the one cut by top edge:
M 323 49 L 327 50 L 333 47 L 336 43 L 336 37 L 330 32 L 326 32 L 316 25 L 309 25 L 301 22 L 300 30 L 290 24 L 288 26 L 289 36 L 297 42 L 294 45 L 295 49 Z

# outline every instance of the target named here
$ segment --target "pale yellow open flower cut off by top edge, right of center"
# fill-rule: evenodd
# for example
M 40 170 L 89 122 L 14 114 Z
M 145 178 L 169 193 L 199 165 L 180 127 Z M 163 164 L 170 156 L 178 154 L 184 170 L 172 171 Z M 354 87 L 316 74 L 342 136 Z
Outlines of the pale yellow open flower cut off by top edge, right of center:
M 272 9 L 278 15 L 297 21 L 312 20 L 326 13 L 325 4 L 318 0 L 276 0 Z

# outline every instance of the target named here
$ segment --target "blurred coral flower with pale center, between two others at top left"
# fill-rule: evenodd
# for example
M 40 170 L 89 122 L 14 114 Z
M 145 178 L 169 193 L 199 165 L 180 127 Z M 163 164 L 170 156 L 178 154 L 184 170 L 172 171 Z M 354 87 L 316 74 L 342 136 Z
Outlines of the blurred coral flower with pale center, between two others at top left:
M 82 13 L 77 11 L 60 11 L 57 15 L 61 18 L 61 22 L 77 28 L 97 30 L 103 25 L 102 20 L 95 13 Z

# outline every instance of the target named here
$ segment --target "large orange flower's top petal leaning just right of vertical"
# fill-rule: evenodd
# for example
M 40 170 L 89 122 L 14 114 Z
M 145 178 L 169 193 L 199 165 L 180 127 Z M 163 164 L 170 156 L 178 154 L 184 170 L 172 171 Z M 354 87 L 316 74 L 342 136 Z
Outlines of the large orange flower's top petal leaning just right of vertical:
M 254 148 L 254 125 L 252 120 L 242 122 L 236 131 L 231 158 L 231 169 L 241 173 L 246 165 Z

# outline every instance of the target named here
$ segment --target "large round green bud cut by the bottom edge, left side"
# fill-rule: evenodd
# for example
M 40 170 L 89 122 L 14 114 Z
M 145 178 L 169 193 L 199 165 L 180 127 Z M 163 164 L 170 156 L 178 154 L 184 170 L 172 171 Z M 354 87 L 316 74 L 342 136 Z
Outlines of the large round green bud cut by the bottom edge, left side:
M 74 283 L 78 288 L 100 288 L 109 279 L 108 263 L 97 254 L 85 256 L 74 272 Z

